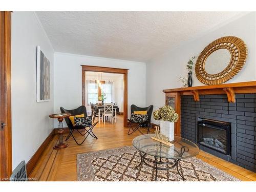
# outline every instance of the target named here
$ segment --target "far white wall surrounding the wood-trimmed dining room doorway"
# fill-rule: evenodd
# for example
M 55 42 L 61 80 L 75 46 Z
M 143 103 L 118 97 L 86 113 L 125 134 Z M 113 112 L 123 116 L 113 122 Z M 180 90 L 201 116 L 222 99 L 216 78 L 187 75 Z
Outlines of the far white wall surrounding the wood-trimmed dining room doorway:
M 54 54 L 54 111 L 62 106 L 75 109 L 82 104 L 81 65 L 129 69 L 128 116 L 130 106 L 145 106 L 145 63 L 67 53 Z M 63 123 L 66 126 L 65 123 Z M 55 121 L 55 126 L 57 122 Z

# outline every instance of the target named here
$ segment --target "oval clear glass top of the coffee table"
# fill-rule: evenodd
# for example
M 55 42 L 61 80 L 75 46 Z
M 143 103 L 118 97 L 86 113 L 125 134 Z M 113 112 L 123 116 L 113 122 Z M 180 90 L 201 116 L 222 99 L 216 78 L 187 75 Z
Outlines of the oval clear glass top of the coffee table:
M 154 157 L 167 159 L 185 159 L 194 157 L 199 153 L 198 146 L 181 137 L 174 136 L 173 146 L 168 146 L 151 139 L 155 134 L 140 135 L 133 139 L 133 146 L 138 151 Z

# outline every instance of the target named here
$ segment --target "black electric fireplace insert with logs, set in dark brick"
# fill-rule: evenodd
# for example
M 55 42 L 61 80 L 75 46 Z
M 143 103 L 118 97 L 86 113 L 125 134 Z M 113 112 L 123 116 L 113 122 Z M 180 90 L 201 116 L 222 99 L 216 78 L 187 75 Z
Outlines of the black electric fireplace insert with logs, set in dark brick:
M 229 155 L 231 123 L 211 119 L 198 119 L 198 144 Z

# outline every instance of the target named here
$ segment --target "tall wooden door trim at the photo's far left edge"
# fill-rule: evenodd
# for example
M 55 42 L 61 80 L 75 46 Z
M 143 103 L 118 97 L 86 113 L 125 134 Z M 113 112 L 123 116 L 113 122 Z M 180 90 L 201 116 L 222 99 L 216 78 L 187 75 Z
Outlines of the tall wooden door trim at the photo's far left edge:
M 12 174 L 12 125 L 11 125 L 11 11 L 0 12 L 0 65 L 1 65 L 1 106 L 4 115 L 1 121 L 6 123 L 0 131 L 0 178 L 10 178 Z

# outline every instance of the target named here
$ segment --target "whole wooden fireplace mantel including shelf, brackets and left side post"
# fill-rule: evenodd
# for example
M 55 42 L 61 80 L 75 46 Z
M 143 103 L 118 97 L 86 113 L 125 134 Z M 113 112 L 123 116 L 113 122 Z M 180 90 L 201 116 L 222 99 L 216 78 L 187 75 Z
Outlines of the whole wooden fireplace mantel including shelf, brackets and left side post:
M 256 93 L 256 81 L 218 84 L 216 86 L 197 86 L 189 88 L 177 88 L 163 90 L 165 104 L 172 105 L 176 113 L 181 116 L 181 96 L 193 95 L 195 101 L 199 101 L 200 95 L 226 94 L 228 102 L 236 102 L 236 94 Z M 180 118 L 175 123 L 175 134 L 181 134 Z

